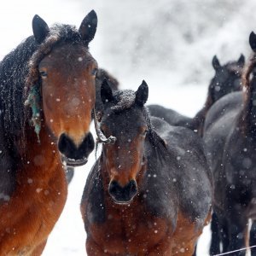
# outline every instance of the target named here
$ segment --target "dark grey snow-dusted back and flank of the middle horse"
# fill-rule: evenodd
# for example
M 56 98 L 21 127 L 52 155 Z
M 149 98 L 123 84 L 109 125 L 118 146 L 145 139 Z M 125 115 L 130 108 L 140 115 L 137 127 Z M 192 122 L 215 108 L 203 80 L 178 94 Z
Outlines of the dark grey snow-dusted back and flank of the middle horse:
M 168 152 L 164 164 L 157 170 L 159 179 L 163 177 L 159 192 L 172 193 L 179 211 L 190 221 L 204 221 L 212 202 L 212 174 L 201 137 L 187 128 L 168 125 L 161 119 L 152 118 L 152 124 L 166 141 Z M 155 161 L 155 157 L 149 160 Z

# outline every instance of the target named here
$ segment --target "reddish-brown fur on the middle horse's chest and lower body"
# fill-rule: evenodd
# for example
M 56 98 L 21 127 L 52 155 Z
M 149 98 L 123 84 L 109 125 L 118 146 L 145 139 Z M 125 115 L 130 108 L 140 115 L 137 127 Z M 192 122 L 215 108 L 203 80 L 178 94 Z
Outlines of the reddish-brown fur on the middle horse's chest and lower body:
M 138 187 L 143 181 L 146 169 L 147 166 L 144 165 L 137 173 Z M 81 203 L 84 224 L 88 225 L 90 230 L 90 236 L 86 240 L 86 251 L 89 256 L 191 256 L 194 253 L 195 243 L 202 230 L 196 228 L 197 224 L 189 221 L 183 212 L 177 212 L 177 225 L 173 227 L 166 218 L 155 217 L 148 212 L 138 196 L 131 205 L 118 205 L 108 194 L 108 171 L 102 168 L 101 176 L 104 181 L 106 221 L 103 224 L 88 224 L 88 204 L 87 201 Z M 205 225 L 209 223 L 211 216 L 212 213 L 209 211 Z

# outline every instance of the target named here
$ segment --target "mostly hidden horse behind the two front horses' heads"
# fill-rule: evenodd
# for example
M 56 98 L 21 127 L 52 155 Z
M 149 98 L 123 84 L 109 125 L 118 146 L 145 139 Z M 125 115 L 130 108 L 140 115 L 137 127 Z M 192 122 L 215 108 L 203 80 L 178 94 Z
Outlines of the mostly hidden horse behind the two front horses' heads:
M 103 68 L 98 68 L 96 72 L 96 79 L 95 79 L 95 85 L 96 85 L 95 109 L 96 109 L 97 119 L 101 119 L 101 113 L 103 110 L 103 104 L 101 100 L 101 86 L 104 79 L 108 79 L 108 84 L 111 86 L 112 90 L 118 90 L 119 88 L 119 81 L 115 79 L 112 74 L 108 73 L 108 71 Z M 73 175 L 74 175 L 74 168 L 67 167 L 66 168 L 67 183 L 71 183 L 73 179 Z

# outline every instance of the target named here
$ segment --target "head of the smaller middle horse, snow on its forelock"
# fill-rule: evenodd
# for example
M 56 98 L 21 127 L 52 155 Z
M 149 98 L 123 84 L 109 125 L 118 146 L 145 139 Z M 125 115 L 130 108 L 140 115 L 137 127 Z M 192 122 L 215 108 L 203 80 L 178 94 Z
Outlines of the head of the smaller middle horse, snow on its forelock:
M 103 145 L 103 165 L 108 172 L 108 192 L 113 201 L 128 204 L 137 195 L 138 179 L 145 166 L 144 143 L 148 123 L 143 107 L 148 99 L 145 81 L 136 93 L 131 90 L 113 90 L 107 80 L 102 83 L 104 114 L 101 130 L 107 136 L 116 137 L 116 142 Z

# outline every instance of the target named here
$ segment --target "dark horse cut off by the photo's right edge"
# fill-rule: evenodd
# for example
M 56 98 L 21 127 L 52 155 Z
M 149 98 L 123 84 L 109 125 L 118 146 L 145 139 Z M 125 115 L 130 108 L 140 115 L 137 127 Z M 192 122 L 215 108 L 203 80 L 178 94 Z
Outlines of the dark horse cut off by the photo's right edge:
M 253 219 L 249 243 L 255 245 L 256 80 L 253 69 L 256 67 L 256 35 L 253 32 L 249 42 L 254 55 L 243 73 L 244 90 L 230 93 L 215 102 L 207 113 L 203 132 L 212 167 L 215 188 L 213 212 L 219 236 L 214 235 L 211 255 L 220 253 L 220 241 L 223 253 L 245 247 L 249 218 Z M 255 248 L 251 253 L 256 255 Z M 245 250 L 232 255 L 245 255 Z

